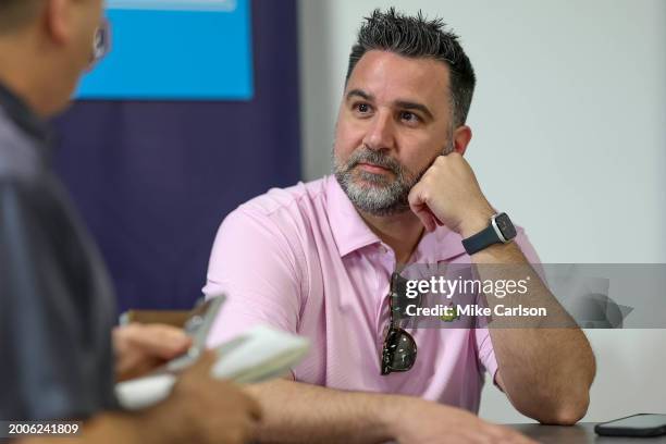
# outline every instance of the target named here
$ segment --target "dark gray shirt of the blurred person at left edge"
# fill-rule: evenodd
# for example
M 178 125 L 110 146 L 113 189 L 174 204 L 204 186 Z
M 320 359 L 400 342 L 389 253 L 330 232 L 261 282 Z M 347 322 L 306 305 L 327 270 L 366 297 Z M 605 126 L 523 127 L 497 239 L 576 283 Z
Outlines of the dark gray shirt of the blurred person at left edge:
M 48 131 L 0 84 L 0 420 L 114 408 L 114 298 L 49 164 Z

